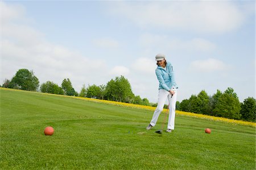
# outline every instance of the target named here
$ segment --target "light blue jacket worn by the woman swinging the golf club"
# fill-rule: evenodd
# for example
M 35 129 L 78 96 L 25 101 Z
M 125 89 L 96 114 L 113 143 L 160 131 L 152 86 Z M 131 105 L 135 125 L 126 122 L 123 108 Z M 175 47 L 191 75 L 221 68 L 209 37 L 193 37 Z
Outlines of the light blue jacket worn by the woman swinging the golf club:
M 177 85 L 174 78 L 174 70 L 172 64 L 167 61 L 166 68 L 158 66 L 155 69 L 156 77 L 159 81 L 159 89 L 169 91 L 171 88 L 177 89 Z

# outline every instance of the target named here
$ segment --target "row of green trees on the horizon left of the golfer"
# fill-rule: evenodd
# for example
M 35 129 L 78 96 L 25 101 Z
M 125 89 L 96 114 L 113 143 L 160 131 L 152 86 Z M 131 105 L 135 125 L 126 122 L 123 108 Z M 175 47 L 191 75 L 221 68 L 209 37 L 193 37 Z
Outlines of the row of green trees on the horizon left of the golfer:
M 131 90 L 130 82 L 124 76 L 115 77 L 106 85 L 97 86 L 93 84 L 88 85 L 87 88 L 83 85 L 80 93 L 78 93 L 73 88 L 69 78 L 65 78 L 62 81 L 61 86 L 52 81 L 43 82 L 43 84 L 39 86 L 39 80 L 34 75 L 33 71 L 28 71 L 28 69 L 19 69 L 11 81 L 6 79 L 2 86 L 4 88 L 30 91 L 36 91 L 39 89 L 42 93 L 106 99 L 109 101 L 134 103 L 146 106 L 151 105 L 147 98 L 142 99 L 140 96 L 135 96 Z

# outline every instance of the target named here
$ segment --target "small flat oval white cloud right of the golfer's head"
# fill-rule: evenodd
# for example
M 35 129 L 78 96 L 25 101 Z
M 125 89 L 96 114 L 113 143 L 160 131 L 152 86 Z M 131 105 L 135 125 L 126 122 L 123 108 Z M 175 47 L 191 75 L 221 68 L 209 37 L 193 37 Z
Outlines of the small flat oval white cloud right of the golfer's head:
M 216 59 L 196 60 L 189 65 L 189 70 L 198 72 L 218 72 L 229 68 L 229 65 Z

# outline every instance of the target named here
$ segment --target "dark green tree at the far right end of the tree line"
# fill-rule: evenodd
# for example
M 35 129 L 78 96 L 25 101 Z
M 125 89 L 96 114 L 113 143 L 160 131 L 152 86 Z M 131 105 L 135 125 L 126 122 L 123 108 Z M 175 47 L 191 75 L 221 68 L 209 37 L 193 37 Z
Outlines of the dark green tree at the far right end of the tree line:
M 243 101 L 241 106 L 241 118 L 245 121 L 255 122 L 255 106 L 256 100 L 253 97 L 248 97 Z

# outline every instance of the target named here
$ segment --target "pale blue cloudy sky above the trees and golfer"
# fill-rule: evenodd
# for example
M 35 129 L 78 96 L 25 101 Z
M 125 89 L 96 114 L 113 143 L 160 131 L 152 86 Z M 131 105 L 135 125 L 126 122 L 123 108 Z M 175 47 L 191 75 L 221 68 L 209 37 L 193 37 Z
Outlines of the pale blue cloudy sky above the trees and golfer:
M 21 68 L 77 92 L 122 75 L 155 103 L 163 53 L 177 101 L 228 87 L 255 98 L 254 1 L 0 1 L 0 19 L 0 84 Z

